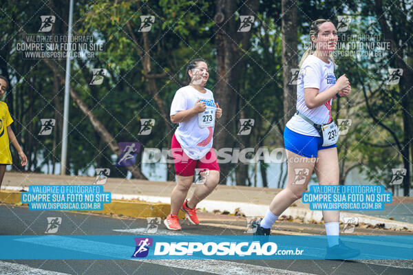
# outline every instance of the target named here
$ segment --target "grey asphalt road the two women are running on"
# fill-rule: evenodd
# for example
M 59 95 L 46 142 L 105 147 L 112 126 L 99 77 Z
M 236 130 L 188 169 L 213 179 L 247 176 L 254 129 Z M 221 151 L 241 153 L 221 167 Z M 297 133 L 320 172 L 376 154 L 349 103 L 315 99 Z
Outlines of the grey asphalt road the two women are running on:
M 0 205 L 0 234 L 43 235 L 47 217 L 61 217 L 59 235 L 142 234 L 146 219 L 108 217 L 98 214 L 61 211 L 30 211 L 23 206 Z M 244 234 L 245 221 L 231 218 L 202 221 L 208 225 L 188 225 L 174 234 Z M 277 234 L 316 234 L 323 225 L 282 222 Z M 389 230 L 361 229 L 360 234 L 412 234 Z M 171 234 L 163 225 L 157 234 Z M 7 249 L 7 248 L 2 248 Z M 413 261 L 404 260 L 2 260 L 0 274 L 412 274 Z

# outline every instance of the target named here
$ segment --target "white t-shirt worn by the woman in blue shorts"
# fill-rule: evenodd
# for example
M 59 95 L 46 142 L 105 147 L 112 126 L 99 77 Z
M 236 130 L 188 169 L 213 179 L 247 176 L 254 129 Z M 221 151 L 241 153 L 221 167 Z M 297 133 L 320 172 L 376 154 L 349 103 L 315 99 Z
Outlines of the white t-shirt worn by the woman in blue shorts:
M 304 88 L 317 88 L 319 93 L 335 85 L 336 78 L 334 75 L 334 63 L 321 61 L 320 58 L 310 54 L 301 65 L 299 76 L 297 78 L 297 111 L 306 115 L 316 124 L 326 124 L 331 122 L 331 100 L 324 105 L 314 109 L 308 109 L 304 100 Z M 313 125 L 309 124 L 295 114 L 286 126 L 291 131 L 301 133 L 301 135 L 310 135 L 319 137 L 319 133 Z

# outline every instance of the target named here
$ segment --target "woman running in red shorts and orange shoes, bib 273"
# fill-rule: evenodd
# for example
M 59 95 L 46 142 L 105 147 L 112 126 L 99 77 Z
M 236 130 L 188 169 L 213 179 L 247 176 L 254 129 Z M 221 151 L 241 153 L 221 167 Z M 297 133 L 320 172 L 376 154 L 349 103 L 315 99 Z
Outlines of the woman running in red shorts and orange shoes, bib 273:
M 196 205 L 207 197 L 220 181 L 220 167 L 212 148 L 215 119 L 222 109 L 215 103 L 212 91 L 205 88 L 208 65 L 202 58 L 193 59 L 187 67 L 188 86 L 176 91 L 171 105 L 171 122 L 179 123 L 172 137 L 172 154 L 178 182 L 171 195 L 171 214 L 164 223 L 170 230 L 181 230 L 178 212 L 182 209 L 195 225 Z M 200 168 L 204 184 L 197 185 L 191 199 L 186 199 L 193 184 L 195 168 Z

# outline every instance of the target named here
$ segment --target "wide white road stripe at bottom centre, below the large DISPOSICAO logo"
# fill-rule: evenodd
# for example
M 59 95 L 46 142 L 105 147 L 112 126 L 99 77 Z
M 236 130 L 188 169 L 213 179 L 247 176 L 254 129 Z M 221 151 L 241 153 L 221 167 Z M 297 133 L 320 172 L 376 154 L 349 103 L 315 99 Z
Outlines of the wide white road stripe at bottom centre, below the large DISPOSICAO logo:
M 183 270 L 194 270 L 199 272 L 208 272 L 212 274 L 234 274 L 234 275 L 262 275 L 262 274 L 279 274 L 279 275 L 313 275 L 306 272 L 297 272 L 290 270 L 280 270 L 273 267 L 263 267 L 261 265 L 251 265 L 248 263 L 237 263 L 221 260 L 140 260 L 142 263 L 153 263 L 156 265 L 165 265 L 167 267 L 177 267 Z

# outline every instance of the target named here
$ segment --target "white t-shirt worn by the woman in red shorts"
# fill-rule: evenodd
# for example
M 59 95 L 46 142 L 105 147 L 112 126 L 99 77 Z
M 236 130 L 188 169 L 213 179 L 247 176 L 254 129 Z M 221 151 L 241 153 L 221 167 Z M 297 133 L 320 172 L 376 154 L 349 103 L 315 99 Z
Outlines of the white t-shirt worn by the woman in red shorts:
M 202 159 L 212 148 L 216 106 L 212 91 L 205 90 L 207 92 L 203 94 L 190 85 L 182 87 L 176 91 L 171 104 L 171 115 L 175 115 L 178 111 L 193 108 L 198 99 L 207 105 L 204 113 L 194 115 L 189 120 L 180 122 L 178 129 L 175 131 L 176 140 L 191 159 Z M 201 128 L 200 125 L 203 126 L 204 122 L 202 121 L 205 120 L 205 117 L 211 126 Z

